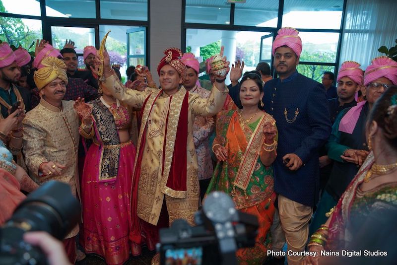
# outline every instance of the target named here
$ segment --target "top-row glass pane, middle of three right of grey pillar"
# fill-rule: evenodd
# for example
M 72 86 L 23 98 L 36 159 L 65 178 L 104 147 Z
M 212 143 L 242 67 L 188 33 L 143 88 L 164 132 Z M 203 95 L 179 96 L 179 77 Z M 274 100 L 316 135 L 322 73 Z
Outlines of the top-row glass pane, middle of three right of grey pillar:
M 278 0 L 250 0 L 236 3 L 234 24 L 257 27 L 277 27 Z

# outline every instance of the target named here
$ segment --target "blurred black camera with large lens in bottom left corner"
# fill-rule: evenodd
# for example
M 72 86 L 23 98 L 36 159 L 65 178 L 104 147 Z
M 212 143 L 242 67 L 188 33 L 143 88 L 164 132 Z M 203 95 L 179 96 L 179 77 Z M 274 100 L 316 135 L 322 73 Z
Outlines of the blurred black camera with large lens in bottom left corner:
M 0 229 L 0 264 L 48 264 L 39 247 L 23 241 L 28 231 L 46 231 L 63 240 L 80 218 L 80 203 L 70 186 L 50 181 L 32 192 Z

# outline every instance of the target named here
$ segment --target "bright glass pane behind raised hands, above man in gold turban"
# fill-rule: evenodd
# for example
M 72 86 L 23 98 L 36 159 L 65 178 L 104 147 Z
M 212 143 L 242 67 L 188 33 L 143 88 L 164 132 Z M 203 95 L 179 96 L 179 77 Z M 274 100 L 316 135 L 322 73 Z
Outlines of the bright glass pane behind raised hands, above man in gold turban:
M 87 45 L 95 46 L 94 28 L 52 26 L 51 33 L 53 46 L 60 50 L 64 47 L 66 39 L 74 41 L 76 53 L 82 54 Z

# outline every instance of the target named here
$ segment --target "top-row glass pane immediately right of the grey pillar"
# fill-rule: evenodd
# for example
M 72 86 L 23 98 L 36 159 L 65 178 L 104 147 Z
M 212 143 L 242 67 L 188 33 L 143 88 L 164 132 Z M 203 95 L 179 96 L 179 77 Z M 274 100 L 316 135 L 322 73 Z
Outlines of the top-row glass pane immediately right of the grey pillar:
M 230 3 L 226 0 L 186 0 L 185 22 L 230 24 Z

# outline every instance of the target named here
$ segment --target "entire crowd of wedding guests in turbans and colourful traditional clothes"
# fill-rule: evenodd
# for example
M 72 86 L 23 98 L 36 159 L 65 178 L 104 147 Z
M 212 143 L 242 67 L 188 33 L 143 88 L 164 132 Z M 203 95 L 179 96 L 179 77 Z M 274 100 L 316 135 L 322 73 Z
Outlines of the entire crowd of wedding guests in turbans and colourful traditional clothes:
M 298 265 L 330 262 L 305 249 L 371 248 L 355 241 L 363 220 L 396 212 L 391 58 L 365 71 L 344 62 L 336 87 L 332 72 L 321 84 L 298 73 L 299 32 L 281 28 L 275 79 L 266 63 L 229 66 L 223 47 L 201 64 L 168 48 L 159 86 L 146 66 L 129 67 L 123 84 L 106 38 L 99 50 L 84 48 L 84 69 L 71 41 L 59 51 L 38 40 L 34 58 L 0 44 L 0 223 L 25 194 L 58 180 L 82 205 L 82 222 L 63 241 L 69 262 L 96 254 L 123 264 L 143 245 L 154 251 L 174 220 L 194 225 L 205 194 L 222 191 L 259 221 L 239 263 Z M 298 254 L 267 255 L 285 244 Z

